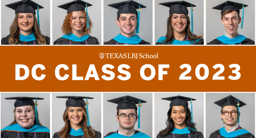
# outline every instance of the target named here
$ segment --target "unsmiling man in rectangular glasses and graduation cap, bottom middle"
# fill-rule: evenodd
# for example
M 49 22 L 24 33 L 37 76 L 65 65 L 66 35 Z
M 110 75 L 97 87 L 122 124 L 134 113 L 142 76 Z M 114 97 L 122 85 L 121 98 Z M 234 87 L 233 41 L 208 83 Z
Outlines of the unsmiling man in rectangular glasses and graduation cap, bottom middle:
M 108 133 L 105 136 L 106 138 L 150 138 L 148 135 L 134 130 L 137 121 L 138 128 L 140 128 L 140 116 L 137 116 L 138 108 L 136 104 L 139 104 L 140 115 L 140 103 L 146 103 L 146 101 L 132 96 L 122 96 L 108 101 L 118 104 L 116 118 L 119 122 L 119 129 L 115 132 Z

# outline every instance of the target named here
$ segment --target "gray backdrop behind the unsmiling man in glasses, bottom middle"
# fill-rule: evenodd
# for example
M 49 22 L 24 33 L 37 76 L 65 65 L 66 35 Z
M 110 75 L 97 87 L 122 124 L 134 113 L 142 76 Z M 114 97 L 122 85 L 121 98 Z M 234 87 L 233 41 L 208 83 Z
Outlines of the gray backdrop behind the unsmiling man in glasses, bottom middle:
M 147 134 L 152 138 L 152 93 L 103 93 L 103 134 L 106 136 L 110 132 L 115 132 L 119 129 L 119 123 L 117 122 L 117 104 L 108 102 L 114 98 L 121 96 L 133 96 L 138 99 L 145 100 L 146 103 L 142 103 L 140 107 L 140 128 L 138 129 L 138 121 L 135 123 L 134 129 Z M 138 105 L 137 105 L 138 106 Z M 139 110 L 139 109 L 138 109 Z M 137 114 L 138 114 L 137 110 Z

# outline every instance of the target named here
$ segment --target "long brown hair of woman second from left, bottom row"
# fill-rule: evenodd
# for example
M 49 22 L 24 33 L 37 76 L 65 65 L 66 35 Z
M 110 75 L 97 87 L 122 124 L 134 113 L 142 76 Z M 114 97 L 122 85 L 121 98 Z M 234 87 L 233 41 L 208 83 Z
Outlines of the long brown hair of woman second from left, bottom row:
M 70 120 L 68 120 L 68 111 L 69 106 L 66 107 L 64 114 L 63 114 L 63 120 L 65 122 L 65 126 L 60 130 L 59 136 L 60 138 L 68 138 L 69 132 L 71 130 Z M 95 137 L 95 131 L 91 126 L 87 126 L 87 114 L 86 114 L 86 107 L 82 106 L 82 111 L 84 113 L 83 120 L 81 123 L 82 131 L 84 132 L 85 138 L 94 138 Z

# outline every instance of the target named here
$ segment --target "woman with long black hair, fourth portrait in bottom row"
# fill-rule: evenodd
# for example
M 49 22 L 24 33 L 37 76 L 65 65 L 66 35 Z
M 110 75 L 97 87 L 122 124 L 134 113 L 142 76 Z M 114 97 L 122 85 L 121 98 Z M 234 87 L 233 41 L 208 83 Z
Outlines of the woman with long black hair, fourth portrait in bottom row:
M 192 99 L 184 96 L 173 96 L 162 98 L 171 101 L 170 109 L 167 112 L 166 128 L 161 130 L 157 138 L 203 138 L 203 134 L 196 130 L 196 123 L 193 122 Z M 191 112 L 188 102 L 191 101 Z

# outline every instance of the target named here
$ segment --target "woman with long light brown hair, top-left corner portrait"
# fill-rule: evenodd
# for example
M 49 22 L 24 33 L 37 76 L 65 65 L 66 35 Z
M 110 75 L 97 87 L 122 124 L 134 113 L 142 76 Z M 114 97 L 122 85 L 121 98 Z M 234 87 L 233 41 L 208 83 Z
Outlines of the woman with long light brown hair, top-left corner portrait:
M 49 45 L 50 38 L 44 36 L 39 28 L 39 15 L 36 12 L 43 7 L 31 0 L 22 0 L 5 5 L 15 10 L 15 18 L 10 27 L 10 34 L 2 38 L 2 45 Z M 38 21 L 37 21 L 38 20 Z

